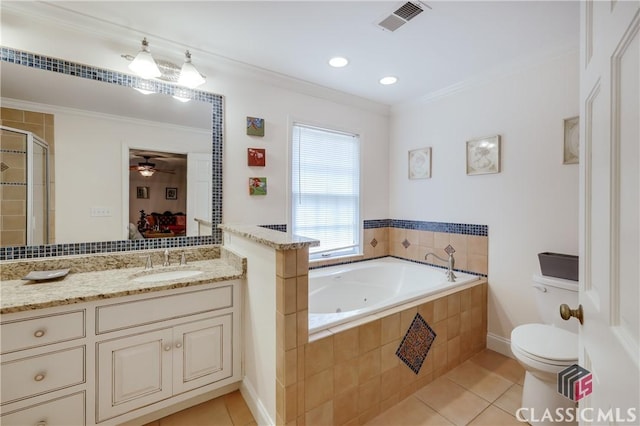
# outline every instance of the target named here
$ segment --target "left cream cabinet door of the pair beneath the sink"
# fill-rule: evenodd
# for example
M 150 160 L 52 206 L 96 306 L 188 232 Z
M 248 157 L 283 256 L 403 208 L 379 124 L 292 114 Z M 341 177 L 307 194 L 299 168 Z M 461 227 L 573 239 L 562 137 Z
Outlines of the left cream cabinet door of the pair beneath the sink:
M 171 329 L 98 343 L 98 421 L 172 394 Z

